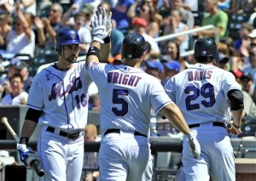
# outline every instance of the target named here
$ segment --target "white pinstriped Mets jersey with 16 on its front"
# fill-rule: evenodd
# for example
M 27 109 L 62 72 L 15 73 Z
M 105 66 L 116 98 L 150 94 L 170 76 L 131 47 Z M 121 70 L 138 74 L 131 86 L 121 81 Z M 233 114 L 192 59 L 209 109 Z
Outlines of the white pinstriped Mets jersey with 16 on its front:
M 39 124 L 83 128 L 87 123 L 90 82 L 84 62 L 75 63 L 68 71 L 59 71 L 50 65 L 34 77 L 27 105 L 44 111 Z

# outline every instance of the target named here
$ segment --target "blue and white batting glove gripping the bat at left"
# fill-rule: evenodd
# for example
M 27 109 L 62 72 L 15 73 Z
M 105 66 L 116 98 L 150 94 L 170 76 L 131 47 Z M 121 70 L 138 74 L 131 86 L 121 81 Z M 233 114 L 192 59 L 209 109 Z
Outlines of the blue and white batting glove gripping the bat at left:
M 22 161 L 26 167 L 31 167 L 32 161 L 36 161 L 38 156 L 31 148 L 26 147 L 26 144 L 17 144 L 17 150 L 20 154 L 20 161 Z

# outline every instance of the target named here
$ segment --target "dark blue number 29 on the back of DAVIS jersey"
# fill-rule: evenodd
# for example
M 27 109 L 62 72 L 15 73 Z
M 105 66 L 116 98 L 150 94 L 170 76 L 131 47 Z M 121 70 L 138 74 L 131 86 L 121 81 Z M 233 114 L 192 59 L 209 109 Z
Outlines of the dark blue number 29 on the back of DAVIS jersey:
M 205 100 L 201 100 L 201 105 L 205 107 L 212 107 L 215 104 L 215 95 L 214 95 L 214 87 L 211 83 L 205 83 L 201 88 L 196 88 L 194 85 L 189 85 L 185 88 L 184 93 L 193 93 L 188 95 L 185 99 L 187 110 L 197 110 L 200 109 L 200 104 L 192 104 L 191 101 L 197 99 L 200 95 L 205 98 Z

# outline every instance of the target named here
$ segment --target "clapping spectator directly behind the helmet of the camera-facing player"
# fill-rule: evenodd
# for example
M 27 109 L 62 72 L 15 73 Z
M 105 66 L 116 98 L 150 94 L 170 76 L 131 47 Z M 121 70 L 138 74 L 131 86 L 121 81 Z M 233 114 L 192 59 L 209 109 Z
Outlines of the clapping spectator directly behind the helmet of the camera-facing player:
M 40 28 L 42 28 L 42 23 L 44 24 L 44 33 L 38 33 L 38 40 L 40 40 L 38 42 L 40 46 L 44 46 L 45 50 L 55 51 L 55 34 L 61 27 L 62 14 L 63 8 L 61 4 L 53 3 L 49 9 L 49 16 L 41 17 L 41 19 L 37 19 L 37 22 L 35 22 L 35 25 L 37 27 L 39 25 Z

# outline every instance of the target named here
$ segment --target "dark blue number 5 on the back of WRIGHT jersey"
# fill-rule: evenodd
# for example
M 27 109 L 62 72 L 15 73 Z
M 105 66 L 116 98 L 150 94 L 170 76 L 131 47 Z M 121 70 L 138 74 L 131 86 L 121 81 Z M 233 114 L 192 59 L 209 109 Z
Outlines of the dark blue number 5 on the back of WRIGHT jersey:
M 115 116 L 125 116 L 125 114 L 128 112 L 128 103 L 123 98 L 119 98 L 119 95 L 128 95 L 128 90 L 123 89 L 113 89 L 113 104 L 119 104 L 122 105 L 121 110 L 118 110 L 116 107 L 112 108 L 113 113 Z

